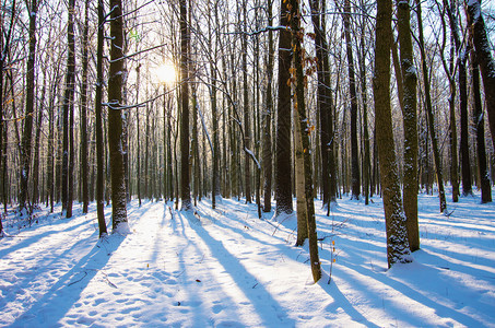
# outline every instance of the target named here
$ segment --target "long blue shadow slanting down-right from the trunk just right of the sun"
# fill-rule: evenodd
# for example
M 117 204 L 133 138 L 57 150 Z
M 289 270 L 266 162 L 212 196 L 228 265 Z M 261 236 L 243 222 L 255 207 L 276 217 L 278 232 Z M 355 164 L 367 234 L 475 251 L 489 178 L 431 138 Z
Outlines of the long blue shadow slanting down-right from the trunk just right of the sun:
M 182 218 L 182 215 L 186 218 Z M 191 215 L 189 215 L 189 213 L 182 213 L 182 215 L 180 215 L 182 220 L 197 220 L 196 218 L 190 218 Z M 192 223 L 190 226 L 196 231 L 198 236 L 200 236 L 203 242 L 209 245 L 212 255 L 219 260 L 227 272 L 237 272 L 239 276 L 247 278 L 251 282 L 257 280 L 245 269 L 239 260 L 223 246 L 222 242 L 213 238 L 201 224 Z M 234 280 L 241 281 L 235 277 Z M 256 289 L 252 288 L 252 283 L 238 283 L 237 286 L 243 291 L 246 297 L 250 300 L 252 306 L 256 308 L 256 313 L 264 320 L 264 325 L 273 321 L 278 321 L 284 326 L 295 325 L 295 321 L 288 318 L 287 313 L 274 314 L 275 312 L 281 312 L 282 306 L 272 297 L 262 284 L 258 284 Z M 267 306 L 268 304 L 274 304 L 275 306 Z

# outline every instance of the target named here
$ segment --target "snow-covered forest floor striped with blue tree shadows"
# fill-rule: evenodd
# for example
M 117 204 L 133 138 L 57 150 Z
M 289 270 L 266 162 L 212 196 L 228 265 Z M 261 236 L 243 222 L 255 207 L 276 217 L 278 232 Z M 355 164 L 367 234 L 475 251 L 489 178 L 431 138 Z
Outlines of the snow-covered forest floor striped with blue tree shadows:
M 422 249 L 387 270 L 382 203 L 373 200 L 339 200 L 330 216 L 316 202 L 317 284 L 307 247 L 294 246 L 295 215 L 259 220 L 243 201 L 188 213 L 132 201 L 131 233 L 103 241 L 94 204 L 87 215 L 76 206 L 73 219 L 43 210 L 22 229 L 11 214 L 0 326 L 495 327 L 495 204 L 461 198 L 446 216 L 436 196 L 421 195 Z

